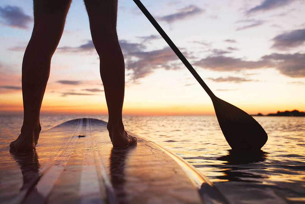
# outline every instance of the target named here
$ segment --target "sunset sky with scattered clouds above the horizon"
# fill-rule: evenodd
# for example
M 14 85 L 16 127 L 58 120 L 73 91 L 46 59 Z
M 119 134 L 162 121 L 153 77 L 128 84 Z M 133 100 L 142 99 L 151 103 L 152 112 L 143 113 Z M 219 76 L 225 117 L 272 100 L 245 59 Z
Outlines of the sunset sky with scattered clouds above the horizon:
M 249 114 L 305 111 L 304 0 L 142 0 L 213 93 Z M 0 114 L 22 113 L 33 2 L 0 2 Z M 119 0 L 124 115 L 214 114 L 203 88 L 131 0 Z M 88 16 L 73 0 L 41 113 L 107 114 Z

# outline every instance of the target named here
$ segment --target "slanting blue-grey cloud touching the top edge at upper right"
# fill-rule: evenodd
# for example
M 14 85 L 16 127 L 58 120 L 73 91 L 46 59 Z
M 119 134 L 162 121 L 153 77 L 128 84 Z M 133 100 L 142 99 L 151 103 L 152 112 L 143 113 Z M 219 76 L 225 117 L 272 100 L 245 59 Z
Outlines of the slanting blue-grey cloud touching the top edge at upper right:
M 264 0 L 260 5 L 255 6 L 249 9 L 246 13 L 251 14 L 257 11 L 267 11 L 271 9 L 275 9 L 281 6 L 285 6 L 294 2 L 295 0 Z

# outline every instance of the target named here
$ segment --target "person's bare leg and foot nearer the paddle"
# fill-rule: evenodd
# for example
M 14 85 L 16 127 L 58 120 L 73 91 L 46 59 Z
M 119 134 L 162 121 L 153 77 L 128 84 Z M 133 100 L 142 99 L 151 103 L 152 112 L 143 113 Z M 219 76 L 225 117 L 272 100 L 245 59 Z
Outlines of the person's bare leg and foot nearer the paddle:
M 100 59 L 100 73 L 108 107 L 108 131 L 114 147 L 137 139 L 124 130 L 122 107 L 125 88 L 124 57 L 117 38 L 117 0 L 84 0 L 92 41 Z

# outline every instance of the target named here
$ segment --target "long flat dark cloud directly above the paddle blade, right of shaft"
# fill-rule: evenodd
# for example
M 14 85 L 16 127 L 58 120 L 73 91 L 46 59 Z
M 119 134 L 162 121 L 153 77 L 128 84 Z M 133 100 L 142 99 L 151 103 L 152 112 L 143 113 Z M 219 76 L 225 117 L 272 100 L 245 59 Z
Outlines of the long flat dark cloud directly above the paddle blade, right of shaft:
M 240 71 L 243 69 L 258 69 L 271 67 L 273 64 L 269 60 L 245 61 L 241 58 L 225 56 L 209 56 L 196 61 L 194 65 L 214 71 Z

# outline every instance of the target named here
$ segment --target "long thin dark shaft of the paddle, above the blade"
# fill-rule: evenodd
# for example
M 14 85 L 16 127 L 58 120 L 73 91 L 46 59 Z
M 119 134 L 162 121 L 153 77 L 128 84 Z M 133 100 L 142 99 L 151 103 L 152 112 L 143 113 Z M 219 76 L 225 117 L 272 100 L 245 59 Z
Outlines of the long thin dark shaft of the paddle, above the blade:
M 143 14 L 147 17 L 147 19 L 151 22 L 151 24 L 156 28 L 156 30 L 160 33 L 160 35 L 167 42 L 167 44 L 174 51 L 174 53 L 179 57 L 179 59 L 186 66 L 186 68 L 188 68 L 188 70 L 192 73 L 192 75 L 195 77 L 195 79 L 200 83 L 200 85 L 203 87 L 203 89 L 206 91 L 206 93 L 210 96 L 210 98 L 214 98 L 215 95 L 213 94 L 213 92 L 206 85 L 206 83 L 204 83 L 204 81 L 201 79 L 201 77 L 196 72 L 196 70 L 192 67 L 192 65 L 188 62 L 188 60 L 184 57 L 184 55 L 180 52 L 180 50 L 173 43 L 173 41 L 170 39 L 170 37 L 168 37 L 168 35 L 164 32 L 164 30 L 161 28 L 161 26 L 158 24 L 158 22 L 154 19 L 154 17 L 152 17 L 152 15 L 145 8 L 145 6 L 142 4 L 142 2 L 140 0 L 133 0 L 133 1 L 139 7 L 139 9 L 143 12 Z

